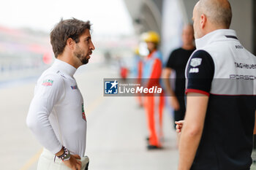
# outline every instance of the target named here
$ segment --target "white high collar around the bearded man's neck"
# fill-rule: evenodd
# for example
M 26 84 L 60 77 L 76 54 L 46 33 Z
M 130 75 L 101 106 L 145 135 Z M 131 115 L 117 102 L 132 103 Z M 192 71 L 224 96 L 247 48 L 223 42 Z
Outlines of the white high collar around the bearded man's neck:
M 59 59 L 55 59 L 54 63 L 53 63 L 53 67 L 57 68 L 59 71 L 68 74 L 69 76 L 73 77 L 73 75 L 75 74 L 75 71 L 77 69 L 75 69 L 74 66 L 71 66 L 69 63 L 66 63 L 64 61 L 61 61 Z

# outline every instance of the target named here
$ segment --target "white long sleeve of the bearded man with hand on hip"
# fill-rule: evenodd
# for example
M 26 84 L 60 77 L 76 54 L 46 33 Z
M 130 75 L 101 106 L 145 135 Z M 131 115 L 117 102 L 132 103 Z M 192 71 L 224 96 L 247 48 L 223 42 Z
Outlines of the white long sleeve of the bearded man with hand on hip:
M 36 85 L 34 98 L 29 107 L 26 124 L 43 147 L 56 154 L 62 144 L 50 125 L 50 112 L 65 95 L 64 80 L 59 75 L 48 74 L 41 77 Z

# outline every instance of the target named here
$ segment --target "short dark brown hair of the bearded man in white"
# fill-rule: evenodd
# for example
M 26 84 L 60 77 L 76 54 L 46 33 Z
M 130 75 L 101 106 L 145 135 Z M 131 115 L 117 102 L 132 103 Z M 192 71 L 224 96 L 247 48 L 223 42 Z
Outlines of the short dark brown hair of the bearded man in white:
M 59 23 L 50 31 L 50 44 L 53 47 L 53 53 L 57 58 L 63 53 L 64 47 L 67 44 L 67 39 L 72 38 L 76 43 L 79 42 L 79 37 L 86 29 L 91 30 L 90 21 L 78 20 L 75 18 L 69 20 L 61 19 Z

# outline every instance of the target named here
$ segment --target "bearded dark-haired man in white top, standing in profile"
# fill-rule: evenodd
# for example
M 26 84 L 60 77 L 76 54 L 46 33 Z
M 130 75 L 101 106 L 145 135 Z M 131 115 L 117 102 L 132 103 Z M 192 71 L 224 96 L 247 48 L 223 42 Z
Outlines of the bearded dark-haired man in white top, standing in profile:
M 89 21 L 72 18 L 61 20 L 50 33 L 56 61 L 39 77 L 26 119 L 45 147 L 37 170 L 88 169 L 80 160 L 86 150 L 86 115 L 73 75 L 94 50 L 90 28 Z

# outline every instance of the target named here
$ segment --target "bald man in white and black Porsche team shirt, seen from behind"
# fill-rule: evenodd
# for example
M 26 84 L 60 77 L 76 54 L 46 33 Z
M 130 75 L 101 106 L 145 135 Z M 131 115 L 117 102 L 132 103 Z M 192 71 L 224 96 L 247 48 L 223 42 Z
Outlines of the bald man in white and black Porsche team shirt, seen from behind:
M 249 170 L 256 131 L 256 56 L 230 29 L 227 0 L 200 0 L 186 68 L 186 116 L 177 123 L 178 170 Z M 181 127 L 182 126 L 182 127 Z

